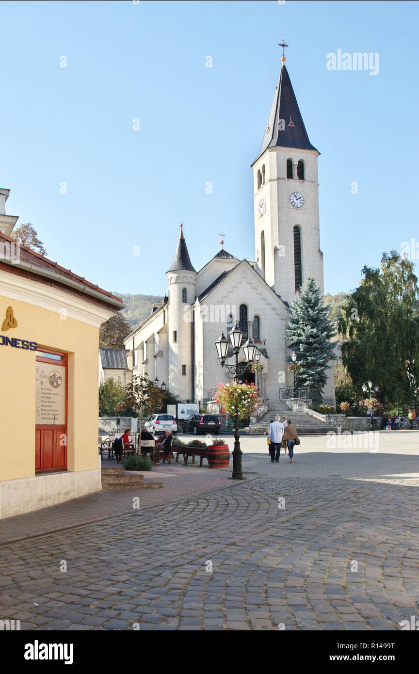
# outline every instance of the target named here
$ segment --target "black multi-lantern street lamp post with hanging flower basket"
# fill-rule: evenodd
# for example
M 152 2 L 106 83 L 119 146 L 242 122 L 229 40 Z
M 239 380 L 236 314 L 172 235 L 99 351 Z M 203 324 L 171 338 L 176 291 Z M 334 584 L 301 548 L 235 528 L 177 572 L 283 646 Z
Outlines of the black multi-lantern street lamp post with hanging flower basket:
M 226 367 L 230 374 L 234 375 L 234 381 L 236 383 L 239 381 L 240 377 L 245 373 L 245 371 L 249 368 L 249 365 L 253 363 L 255 359 L 255 352 L 256 352 L 256 346 L 253 344 L 251 338 L 243 344 L 243 351 L 245 353 L 245 359 L 246 363 L 239 363 L 238 362 L 238 353 L 240 351 L 240 346 L 243 340 L 243 332 L 238 328 L 237 324 L 234 326 L 233 330 L 230 330 L 228 333 L 228 336 L 230 338 L 230 342 L 232 345 L 232 350 L 235 358 L 235 363 L 234 365 L 229 365 L 226 363 L 227 359 L 227 354 L 228 354 L 228 348 L 230 346 L 230 342 L 228 339 L 224 336 L 224 332 L 222 332 L 221 337 L 218 338 L 218 340 L 215 342 L 216 344 L 216 349 L 218 353 L 218 360 L 220 361 L 221 367 Z M 233 480 L 243 480 L 243 472 L 242 472 L 242 450 L 240 450 L 240 433 L 238 431 L 238 413 L 234 415 L 235 417 L 235 429 L 234 429 L 234 450 L 232 452 L 233 454 L 233 472 L 232 472 L 232 479 Z

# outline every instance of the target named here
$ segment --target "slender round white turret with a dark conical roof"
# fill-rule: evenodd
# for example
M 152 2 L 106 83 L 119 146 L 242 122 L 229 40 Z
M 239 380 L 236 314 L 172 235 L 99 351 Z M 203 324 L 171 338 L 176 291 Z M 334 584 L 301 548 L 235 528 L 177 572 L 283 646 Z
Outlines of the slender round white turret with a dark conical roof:
M 193 400 L 193 322 L 197 272 L 189 257 L 183 225 L 173 262 L 166 272 L 168 282 L 168 388 L 181 400 Z

